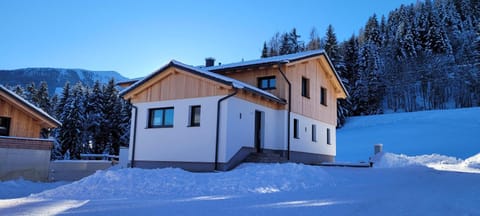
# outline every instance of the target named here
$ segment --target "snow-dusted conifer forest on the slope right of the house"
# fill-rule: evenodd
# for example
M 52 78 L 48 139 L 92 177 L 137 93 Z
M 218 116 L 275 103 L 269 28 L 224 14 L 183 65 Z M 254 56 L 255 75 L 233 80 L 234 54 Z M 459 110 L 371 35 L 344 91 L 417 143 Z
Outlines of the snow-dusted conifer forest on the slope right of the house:
M 324 49 L 350 97 L 340 100 L 338 126 L 348 116 L 480 106 L 480 1 L 435 0 L 372 15 L 358 35 L 339 42 L 311 30 L 275 33 L 261 57 Z

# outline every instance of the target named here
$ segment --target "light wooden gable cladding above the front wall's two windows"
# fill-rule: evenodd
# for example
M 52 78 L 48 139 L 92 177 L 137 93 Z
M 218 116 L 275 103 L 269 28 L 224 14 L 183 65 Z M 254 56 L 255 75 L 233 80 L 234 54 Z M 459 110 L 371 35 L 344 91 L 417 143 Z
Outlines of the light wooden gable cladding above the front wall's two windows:
M 132 103 L 228 94 L 231 86 L 170 67 L 124 96 Z

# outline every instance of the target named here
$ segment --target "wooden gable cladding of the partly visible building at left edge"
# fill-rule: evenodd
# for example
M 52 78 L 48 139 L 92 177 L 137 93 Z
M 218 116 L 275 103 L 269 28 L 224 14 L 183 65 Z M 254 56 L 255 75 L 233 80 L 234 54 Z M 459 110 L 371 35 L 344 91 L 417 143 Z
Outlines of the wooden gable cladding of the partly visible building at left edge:
M 11 119 L 9 136 L 14 137 L 40 138 L 41 128 L 49 126 L 2 95 L 0 95 L 0 117 Z

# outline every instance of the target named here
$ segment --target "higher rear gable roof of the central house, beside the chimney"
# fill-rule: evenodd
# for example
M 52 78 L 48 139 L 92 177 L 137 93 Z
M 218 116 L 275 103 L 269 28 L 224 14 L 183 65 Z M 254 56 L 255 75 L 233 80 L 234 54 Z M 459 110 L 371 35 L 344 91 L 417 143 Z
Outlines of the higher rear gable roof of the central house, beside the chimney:
M 327 62 L 329 64 L 330 68 L 332 69 L 332 71 L 335 75 L 335 78 L 337 79 L 337 82 L 340 84 L 342 90 L 345 92 L 345 95 L 348 97 L 349 94 L 347 92 L 347 89 L 343 85 L 343 82 L 341 81 L 340 76 L 338 75 L 337 71 L 335 70 L 335 67 L 333 66 L 332 62 L 330 61 L 330 58 L 328 57 L 327 53 L 323 49 L 310 50 L 310 51 L 281 55 L 281 56 L 272 56 L 272 57 L 268 57 L 268 58 L 255 59 L 255 60 L 250 60 L 250 61 L 242 61 L 242 62 L 231 63 L 231 64 L 222 64 L 222 65 L 217 65 L 217 66 L 204 67 L 203 69 L 215 72 L 215 71 L 221 71 L 221 70 L 242 69 L 242 68 L 249 68 L 249 67 L 256 67 L 256 66 L 288 64 L 288 63 L 291 63 L 291 62 L 295 62 L 295 61 L 299 61 L 299 60 L 303 60 L 303 59 L 311 58 L 311 57 L 315 57 L 315 56 L 321 56 L 321 55 L 325 56 L 325 59 L 327 59 Z

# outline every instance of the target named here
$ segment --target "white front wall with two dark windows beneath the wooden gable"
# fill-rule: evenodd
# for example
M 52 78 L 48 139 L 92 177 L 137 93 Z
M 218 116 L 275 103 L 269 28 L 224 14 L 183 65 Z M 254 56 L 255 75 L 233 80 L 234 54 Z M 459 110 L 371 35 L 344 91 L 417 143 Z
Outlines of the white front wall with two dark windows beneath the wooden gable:
M 135 160 L 214 162 L 216 110 L 220 98 L 213 96 L 135 104 L 138 107 Z M 200 127 L 189 127 L 190 106 L 196 105 L 201 106 Z M 163 107 L 174 107 L 173 127 L 148 128 L 149 109 Z

